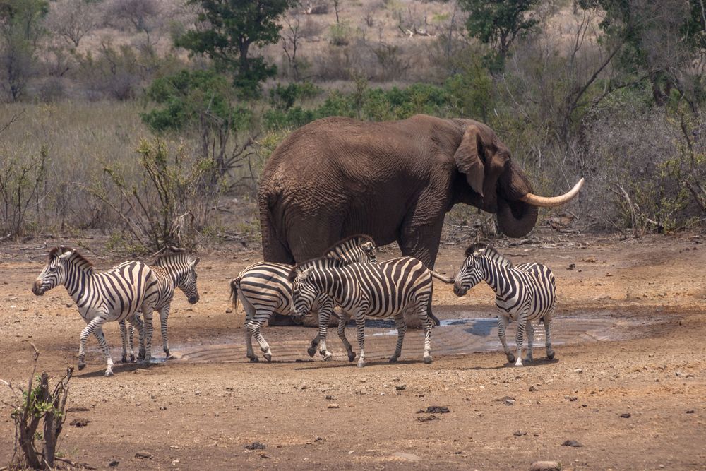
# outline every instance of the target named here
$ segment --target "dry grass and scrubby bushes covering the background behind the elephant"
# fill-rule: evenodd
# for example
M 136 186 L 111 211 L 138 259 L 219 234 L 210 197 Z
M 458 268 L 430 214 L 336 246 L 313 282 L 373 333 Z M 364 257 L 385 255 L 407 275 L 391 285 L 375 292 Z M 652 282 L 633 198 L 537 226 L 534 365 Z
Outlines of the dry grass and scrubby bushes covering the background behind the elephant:
M 116 248 L 149 249 L 143 239 L 150 237 L 135 237 L 132 229 L 154 215 L 138 214 L 130 198 L 107 196 L 135 189 L 150 201 L 136 149 L 153 134 L 167 143 L 170 171 L 199 169 L 202 176 L 184 200 L 195 217 L 193 233 L 177 242 L 257 239 L 247 201 L 263 162 L 289 131 L 330 114 L 400 119 L 417 112 L 489 124 L 537 192 L 565 190 L 587 177 L 581 197 L 564 208 L 563 221 L 579 229 L 639 236 L 702 227 L 703 51 L 685 59 L 674 42 L 681 4 L 653 11 L 649 2 L 630 1 L 653 26 L 639 42 L 649 52 L 645 70 L 626 71 L 627 43 L 602 37 L 605 13 L 581 2 L 537 1 L 527 13 L 537 28 L 517 36 L 498 69 L 488 61 L 491 47 L 469 35 L 468 13 L 455 0 L 304 1 L 281 18 L 280 42 L 253 51 L 277 65 L 260 97 L 225 90 L 226 114 L 195 109 L 188 126 L 160 130 L 140 118 L 155 109 L 148 98 L 155 95 L 145 89 L 157 78 L 210 65 L 174 47 L 198 7 L 52 1 L 32 30 L 24 75 L 3 72 L 0 80 L 0 240 L 100 229 L 113 234 Z M 3 71 L 7 61 L 4 55 Z M 660 81 L 662 71 L 673 72 L 676 85 Z M 193 105 L 198 96 L 179 99 Z M 544 217 L 551 223 L 551 213 Z M 489 220 L 478 220 L 457 208 L 450 228 L 475 225 L 492 235 Z

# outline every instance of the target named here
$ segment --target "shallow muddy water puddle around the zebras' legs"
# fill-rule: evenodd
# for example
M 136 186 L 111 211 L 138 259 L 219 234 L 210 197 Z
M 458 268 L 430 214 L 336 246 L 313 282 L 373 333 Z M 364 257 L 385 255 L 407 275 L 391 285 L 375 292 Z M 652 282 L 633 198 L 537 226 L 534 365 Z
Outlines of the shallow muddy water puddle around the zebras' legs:
M 451 354 L 469 354 L 473 352 L 502 351 L 498 339 L 498 321 L 496 318 L 481 317 L 483 313 L 469 309 L 459 309 L 453 306 L 444 314 L 455 318 L 445 318 L 441 325 L 432 330 L 431 352 L 434 357 Z M 615 314 L 615 313 L 613 313 Z M 442 317 L 439 315 L 439 317 Z M 450 317 L 450 316 L 443 316 Z M 552 321 L 551 338 L 555 347 L 575 345 L 586 342 L 603 342 L 626 340 L 641 336 L 646 325 L 664 321 L 662 318 L 616 318 L 611 313 L 602 311 L 596 313 L 576 313 L 572 316 L 557 316 Z M 507 330 L 508 343 L 515 345 L 515 323 L 510 323 Z M 265 339 L 269 342 L 273 353 L 273 361 L 295 362 L 311 361 L 306 354 L 311 339 L 316 336 L 314 328 L 277 327 L 263 328 Z M 385 359 L 395 350 L 397 329 L 392 320 L 366 321 L 365 350 L 366 359 Z M 544 347 L 544 324 L 534 325 L 534 346 Z M 358 352 L 356 330 L 352 323 L 346 328 L 346 336 Z M 328 330 L 328 350 L 333 353 L 333 360 L 347 362 L 345 349 L 338 338 L 337 328 Z M 525 345 L 527 338 L 525 335 Z M 253 349 L 261 361 L 264 361 L 258 343 L 253 339 Z M 409 329 L 405 335 L 400 360 L 421 359 L 424 351 L 424 332 L 421 329 Z M 244 330 L 228 338 L 212 339 L 201 345 L 174 345 L 172 353 L 182 361 L 188 362 L 247 362 L 244 343 Z M 320 361 L 318 353 L 314 357 Z

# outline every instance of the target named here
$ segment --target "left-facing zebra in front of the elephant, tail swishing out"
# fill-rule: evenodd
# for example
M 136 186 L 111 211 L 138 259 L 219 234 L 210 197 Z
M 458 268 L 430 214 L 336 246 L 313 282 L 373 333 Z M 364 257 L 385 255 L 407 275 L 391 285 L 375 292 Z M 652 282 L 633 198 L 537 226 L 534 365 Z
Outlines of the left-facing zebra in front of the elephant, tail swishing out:
M 289 273 L 292 282 L 294 311 L 301 316 L 311 309 L 315 299 L 322 294 L 330 296 L 341 309 L 354 314 L 360 355 L 358 366 L 365 366 L 365 318 L 393 317 L 397 326 L 397 347 L 390 362 L 397 362 L 402 353 L 407 324 L 404 312 L 409 307 L 417 311 L 424 326 L 424 362 L 431 363 L 431 318 L 427 313 L 431 300 L 432 280 L 452 280 L 429 270 L 424 263 L 412 257 L 393 258 L 381 263 L 351 263 L 343 267 L 319 268 L 321 259 L 295 266 Z M 345 329 L 341 318 L 338 330 Z M 343 340 L 343 338 L 342 338 Z M 321 338 L 325 342 L 325 337 Z M 355 354 L 349 343 L 344 342 L 348 359 Z

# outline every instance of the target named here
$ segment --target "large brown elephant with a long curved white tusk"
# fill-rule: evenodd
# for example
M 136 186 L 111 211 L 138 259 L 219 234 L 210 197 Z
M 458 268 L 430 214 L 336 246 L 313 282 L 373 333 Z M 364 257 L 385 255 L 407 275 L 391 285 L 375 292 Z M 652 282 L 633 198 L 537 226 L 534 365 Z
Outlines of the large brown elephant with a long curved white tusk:
M 302 262 L 344 237 L 369 234 L 433 268 L 454 205 L 495 213 L 503 234 L 523 237 L 539 207 L 570 201 L 582 184 L 562 196 L 532 194 L 508 147 L 472 119 L 318 119 L 287 136 L 265 164 L 258 191 L 263 256 Z

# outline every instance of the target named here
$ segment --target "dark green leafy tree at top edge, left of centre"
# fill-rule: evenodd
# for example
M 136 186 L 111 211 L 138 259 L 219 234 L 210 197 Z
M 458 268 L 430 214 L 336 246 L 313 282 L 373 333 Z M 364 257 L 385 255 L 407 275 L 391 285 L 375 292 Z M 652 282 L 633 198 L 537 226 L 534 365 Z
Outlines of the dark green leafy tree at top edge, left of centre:
M 248 96 L 258 95 L 260 83 L 277 68 L 262 57 L 249 56 L 252 45 L 262 47 L 280 40 L 280 16 L 299 0 L 189 0 L 201 6 L 203 28 L 188 30 L 175 44 L 193 54 L 205 54 L 222 70 L 233 73 L 233 83 Z

